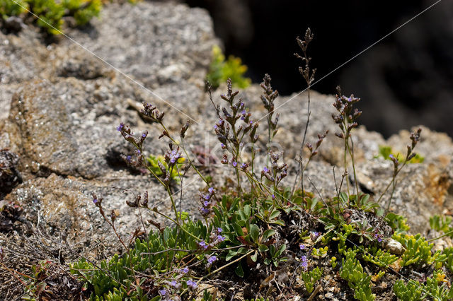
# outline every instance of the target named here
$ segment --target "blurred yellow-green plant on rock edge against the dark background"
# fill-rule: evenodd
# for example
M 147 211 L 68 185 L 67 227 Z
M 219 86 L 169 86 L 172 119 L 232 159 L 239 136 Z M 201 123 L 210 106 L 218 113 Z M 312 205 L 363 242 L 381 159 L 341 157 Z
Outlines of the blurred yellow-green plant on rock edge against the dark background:
M 224 83 L 228 78 L 239 88 L 247 88 L 251 84 L 251 79 L 243 76 L 247 71 L 247 66 L 242 64 L 239 57 L 230 55 L 225 61 L 225 56 L 219 46 L 212 47 L 212 61 L 210 71 L 206 79 L 212 88 L 218 88 L 220 83 Z

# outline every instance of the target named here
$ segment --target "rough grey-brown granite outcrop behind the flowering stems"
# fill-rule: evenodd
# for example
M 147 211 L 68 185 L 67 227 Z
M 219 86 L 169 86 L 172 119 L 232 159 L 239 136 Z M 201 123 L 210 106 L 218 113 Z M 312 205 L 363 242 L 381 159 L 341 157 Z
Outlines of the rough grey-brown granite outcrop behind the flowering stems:
M 23 175 L 23 183 L 16 183 L 5 199 L 23 207 L 22 216 L 30 227 L 47 229 L 47 235 L 64 237 L 76 252 L 101 258 L 107 255 L 93 251 L 93 246 L 99 247 L 101 241 L 111 246 L 115 237 L 93 205 L 92 193 L 103 195 L 105 208 L 120 211 L 116 223 L 124 237 L 140 224 L 138 212 L 127 208 L 126 199 L 148 190 L 150 202 L 159 203 L 161 211 L 171 211 L 159 184 L 139 170 L 130 170 L 120 157 L 133 152 L 115 129 L 120 122 L 136 132 L 150 132 L 147 153 L 159 155 L 167 148 L 164 138 L 157 139 L 161 129 L 145 122 L 135 104 L 157 105 L 166 112 L 168 129 L 176 133 L 191 119 L 187 146 L 197 153 L 212 149 L 212 155 L 221 157 L 211 130 L 216 115 L 203 82 L 217 40 L 205 11 L 149 2 L 108 5 L 100 20 L 93 20 L 84 30 L 69 30 L 68 35 L 84 49 L 65 37 L 46 46 L 33 28 L 17 36 L 0 33 L 0 104 L 4 109 L 0 112 L 0 148 L 18 154 L 21 165 L 17 169 Z M 224 88 L 213 93 L 215 102 L 222 101 L 221 91 Z M 259 94 L 258 85 L 241 93 L 254 119 L 265 115 Z M 277 109 L 280 130 L 275 142 L 285 151 L 287 162 L 294 162 L 306 122 L 306 94 L 277 102 L 282 107 Z M 327 129 L 329 134 L 306 172 L 304 185 L 325 197 L 335 194 L 333 166 L 337 181 L 343 173 L 343 145 L 333 135 L 332 102 L 331 95 L 311 93 L 307 141 L 316 141 L 316 135 Z M 260 124 L 265 129 L 265 120 Z M 390 161 L 375 158 L 379 146 L 404 151 L 408 132 L 386 141 L 361 127 L 353 139 L 360 182 L 374 197 L 379 196 L 393 168 Z M 425 162 L 408 165 L 401 172 L 391 208 L 408 216 L 413 231 L 423 232 L 432 214 L 452 210 L 453 143 L 445 134 L 423 129 L 418 151 Z M 287 185 L 294 182 L 296 167 L 290 165 Z M 226 168 L 213 167 L 209 172 L 217 185 L 231 177 Z M 196 215 L 197 192 L 203 184 L 189 173 L 183 187 L 178 203 L 183 211 Z M 386 201 L 384 197 L 382 203 Z

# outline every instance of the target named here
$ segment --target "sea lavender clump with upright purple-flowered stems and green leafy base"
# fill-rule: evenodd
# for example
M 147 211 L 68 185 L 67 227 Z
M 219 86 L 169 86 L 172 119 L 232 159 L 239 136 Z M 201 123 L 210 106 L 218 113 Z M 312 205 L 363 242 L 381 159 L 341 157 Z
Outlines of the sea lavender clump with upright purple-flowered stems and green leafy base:
M 310 69 L 311 58 L 306 53 L 311 40 L 311 30 L 306 31 L 304 40 L 297 39 L 303 52 L 297 57 L 304 62 L 299 71 L 309 91 L 315 71 Z M 305 161 L 302 161 L 302 154 L 297 158 L 297 175 L 302 174 L 302 183 L 297 185 L 296 177 L 292 188 L 282 187 L 288 165 L 283 162 L 284 154 L 272 147 L 278 131 L 279 116 L 275 112 L 278 92 L 272 88 L 268 74 L 260 86 L 263 88 L 260 99 L 267 111 L 267 137 L 262 139 L 258 122 L 239 98 L 239 91 L 232 89 L 231 80 L 227 81 L 226 93 L 221 95 L 218 103 L 212 99 L 208 88 L 213 112 L 217 115 L 213 131 L 224 152 L 222 165 L 219 166 L 228 168 L 232 179 L 227 176 L 210 179 L 203 175 L 185 146 L 189 122 L 183 124 L 176 138 L 164 125 L 164 112 L 159 112 L 153 105 L 144 103 L 142 114 L 160 126 L 159 133 L 156 133 L 159 138 L 168 139 L 168 150 L 163 156 L 165 164 L 157 160 L 151 165 L 150 160 L 145 160 L 147 131 L 136 135 L 126 124 L 117 127 L 122 137 L 134 146 L 134 153 L 125 154 L 124 160 L 134 167 L 149 170 L 168 194 L 173 213 L 159 208 L 159 204 L 166 200 L 154 203 L 147 191 L 137 192 L 134 199 L 126 203 L 139 211 L 143 230 L 136 230 L 132 240 L 125 242 L 115 227 L 117 212 L 111 211 L 107 216 L 102 198 L 93 195 L 93 203 L 127 252 L 122 256 L 113 256 L 109 262 L 103 261 L 101 268 L 84 260 L 71 266 L 72 273 L 91 284 L 92 300 L 230 299 L 235 294 L 230 293 L 231 285 L 235 289 L 242 289 L 244 285 L 251 288 L 253 293 L 247 296 L 246 290 L 241 292 L 243 298 L 283 300 L 299 295 L 309 299 L 326 285 L 324 277 L 327 273 L 340 275 L 344 279 L 341 283 L 345 287 L 340 290 L 347 291 L 347 298 L 374 300 L 372 291 L 379 279 L 395 282 L 393 276 L 386 276 L 386 271 L 394 262 L 401 261 L 404 266 L 411 266 L 423 261 L 435 265 L 437 269 L 442 268 L 444 262 L 451 265 L 451 261 L 447 260 L 448 254 L 432 253 L 431 244 L 420 237 L 407 235 L 405 231 L 408 228 L 403 228 L 401 216 L 379 216 L 379 205 L 360 191 L 355 175 L 351 134 L 358 125 L 356 120 L 361 112 L 353 107 L 359 101 L 353 95 L 345 97 L 338 89 L 333 103 L 338 111 L 333 119 L 340 128 L 340 133 L 336 135 L 344 140 L 345 168 L 340 184 L 334 180 L 336 191 L 332 191 L 331 197 L 323 196 L 312 183 L 319 196 L 317 198 L 303 186 L 304 170 L 318 154 L 327 135 L 326 131 L 318 135 L 314 144 L 306 143 L 306 128 L 311 114 L 310 96 L 302 136 L 302 147 L 309 151 L 309 156 Z M 411 134 L 411 140 L 406 160 L 403 163 L 393 160 L 394 176 L 384 193 L 393 185 L 393 195 L 396 176 L 415 155 L 413 149 L 420 140 L 420 130 Z M 249 146 L 250 153 L 245 153 L 245 146 Z M 266 151 L 264 164 L 256 162 L 259 149 Z M 347 172 L 348 157 L 354 174 L 352 193 Z M 160 172 L 156 172 L 156 165 Z M 187 198 L 182 192 L 183 177 L 189 170 L 206 184 L 200 189 L 197 200 L 188 200 L 198 204 L 199 219 L 191 218 L 181 208 L 183 199 Z M 179 206 L 171 186 L 172 175 L 180 178 Z M 343 189 L 343 182 L 347 183 L 346 189 Z M 153 218 L 144 218 L 144 211 L 159 214 L 173 225 L 166 226 Z M 384 248 L 392 235 L 406 246 L 407 252 L 390 254 Z M 416 246 L 423 247 L 423 256 L 418 256 L 421 251 Z M 368 271 L 375 271 L 376 274 L 372 277 Z M 445 278 L 441 271 L 436 275 L 438 279 Z M 241 284 L 234 286 L 235 283 Z M 203 287 L 206 288 L 204 291 Z M 399 283 L 397 288 L 397 295 L 405 295 L 408 290 L 404 283 Z M 388 290 L 390 292 L 391 285 Z M 420 290 L 425 292 L 427 288 L 423 286 Z

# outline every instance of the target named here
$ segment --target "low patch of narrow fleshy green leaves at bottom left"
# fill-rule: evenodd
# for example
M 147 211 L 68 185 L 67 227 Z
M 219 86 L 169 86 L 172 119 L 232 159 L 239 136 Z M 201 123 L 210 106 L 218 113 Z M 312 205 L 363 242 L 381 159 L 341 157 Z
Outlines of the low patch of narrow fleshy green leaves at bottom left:
M 130 252 L 122 256 L 115 254 L 110 261 L 101 261 L 98 266 L 82 258 L 71 264 L 70 271 L 86 283 L 86 288 L 87 285 L 92 288 L 90 300 L 115 300 L 115 297 L 144 300 L 146 294 L 133 279 L 135 273 L 145 271 L 164 273 L 166 278 L 178 281 L 182 287 L 182 283 L 189 279 L 190 271 L 184 271 L 183 266 L 173 266 L 172 262 L 182 260 L 190 250 L 197 249 L 197 239 L 207 241 L 210 236 L 210 229 L 201 221 L 188 220 L 183 228 L 191 235 L 180 232 L 178 228 L 161 228 L 157 232 L 151 231 L 145 240 L 137 238 Z M 168 283 L 171 281 L 163 281 L 162 287 L 171 288 Z

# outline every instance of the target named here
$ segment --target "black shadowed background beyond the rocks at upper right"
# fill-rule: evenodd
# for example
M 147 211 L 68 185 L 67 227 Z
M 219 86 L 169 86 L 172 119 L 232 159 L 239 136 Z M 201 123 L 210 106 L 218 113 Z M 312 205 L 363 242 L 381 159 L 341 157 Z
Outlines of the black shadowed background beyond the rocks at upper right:
M 243 59 L 254 83 L 269 73 L 282 95 L 305 88 L 293 53 L 307 27 L 319 79 L 436 1 L 185 0 L 210 11 L 226 54 Z M 453 1 L 440 1 L 313 88 L 333 94 L 338 84 L 362 98 L 368 129 L 389 136 L 424 124 L 453 136 Z

